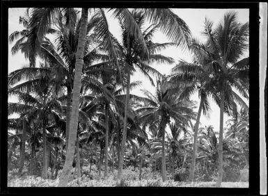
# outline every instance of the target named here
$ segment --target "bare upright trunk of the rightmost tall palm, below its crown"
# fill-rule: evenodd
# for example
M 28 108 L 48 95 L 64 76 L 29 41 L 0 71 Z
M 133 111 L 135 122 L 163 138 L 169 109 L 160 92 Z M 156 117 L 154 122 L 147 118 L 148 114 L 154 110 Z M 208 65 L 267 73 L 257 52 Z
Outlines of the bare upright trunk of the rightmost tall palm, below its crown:
M 219 147 L 218 147 L 218 179 L 216 187 L 221 187 L 223 177 L 223 111 L 224 111 L 224 90 L 221 90 L 221 110 L 220 110 L 220 123 L 219 123 Z

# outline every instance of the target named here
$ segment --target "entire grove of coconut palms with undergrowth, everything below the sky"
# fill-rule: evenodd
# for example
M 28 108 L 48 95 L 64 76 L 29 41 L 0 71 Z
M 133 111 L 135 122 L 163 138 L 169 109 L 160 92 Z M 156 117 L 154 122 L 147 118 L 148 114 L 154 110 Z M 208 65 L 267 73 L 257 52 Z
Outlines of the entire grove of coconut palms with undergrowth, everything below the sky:
M 171 9 L 25 10 L 9 35 L 29 65 L 8 74 L 8 186 L 248 182 L 249 23 L 237 13 L 205 18 L 201 42 Z M 169 41 L 153 42 L 157 31 Z M 191 62 L 161 53 L 174 46 Z M 155 64 L 175 66 L 164 75 Z M 137 70 L 154 92 L 132 81 Z M 212 101 L 219 127 L 200 122 Z

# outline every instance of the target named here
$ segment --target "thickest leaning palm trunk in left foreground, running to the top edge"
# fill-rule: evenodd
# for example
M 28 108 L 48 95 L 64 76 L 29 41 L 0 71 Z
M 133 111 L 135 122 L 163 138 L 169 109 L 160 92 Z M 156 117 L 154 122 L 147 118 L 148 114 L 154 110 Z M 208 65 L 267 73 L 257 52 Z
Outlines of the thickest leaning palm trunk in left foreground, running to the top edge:
M 81 27 L 79 31 L 79 39 L 77 44 L 76 62 L 75 62 L 75 73 L 74 73 L 74 87 L 72 90 L 72 112 L 70 117 L 70 133 L 68 141 L 68 151 L 66 160 L 63 165 L 63 172 L 61 174 L 58 186 L 67 186 L 68 179 L 70 178 L 72 170 L 72 161 L 74 159 L 74 147 L 75 140 L 77 138 L 77 125 L 79 115 L 79 100 L 80 100 L 80 89 L 81 89 L 81 74 L 83 67 L 83 56 L 86 44 L 86 26 L 88 22 L 88 8 L 82 8 L 81 13 Z

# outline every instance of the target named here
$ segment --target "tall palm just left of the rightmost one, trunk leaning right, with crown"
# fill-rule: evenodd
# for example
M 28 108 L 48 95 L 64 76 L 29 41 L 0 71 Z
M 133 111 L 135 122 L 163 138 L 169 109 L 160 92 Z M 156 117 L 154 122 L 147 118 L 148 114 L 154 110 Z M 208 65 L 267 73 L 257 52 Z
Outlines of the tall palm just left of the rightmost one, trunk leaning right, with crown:
M 196 118 L 196 124 L 194 126 L 194 149 L 191 156 L 191 168 L 189 181 L 194 181 L 194 171 L 196 165 L 196 145 L 198 136 L 198 127 L 200 122 L 200 115 L 203 111 L 204 115 L 207 115 L 210 111 L 210 103 L 208 101 L 208 96 L 212 95 L 214 88 L 211 86 L 211 74 L 209 56 L 205 53 L 206 51 L 200 50 L 203 44 L 198 42 L 198 40 L 192 39 L 189 44 L 189 49 L 194 53 L 194 63 L 187 63 L 184 60 L 180 60 L 178 65 L 173 67 L 173 74 L 171 76 L 171 81 L 179 85 L 187 85 L 187 95 L 192 95 L 194 92 L 198 91 L 198 96 L 200 97 L 200 104 L 198 107 L 198 115 Z

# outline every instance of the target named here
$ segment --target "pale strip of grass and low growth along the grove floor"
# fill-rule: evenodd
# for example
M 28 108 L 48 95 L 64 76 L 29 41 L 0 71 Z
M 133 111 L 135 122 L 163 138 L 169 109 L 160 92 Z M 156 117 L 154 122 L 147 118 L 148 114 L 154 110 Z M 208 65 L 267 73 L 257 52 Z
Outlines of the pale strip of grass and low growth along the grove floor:
M 83 168 L 83 172 L 88 172 L 88 168 Z M 59 172 L 60 174 L 60 172 Z M 58 175 L 59 176 L 59 175 Z M 151 172 L 150 168 L 144 168 L 141 181 L 139 181 L 139 171 L 133 171 L 131 168 L 127 168 L 123 172 L 123 182 L 116 184 L 117 172 L 109 172 L 109 176 L 104 179 L 103 172 L 102 177 L 98 177 L 97 168 L 93 167 L 90 179 L 85 174 L 81 175 L 80 186 L 81 187 L 115 187 L 115 186 L 151 186 L 151 187 L 214 187 L 215 181 L 199 181 L 193 184 L 183 181 L 174 181 L 171 175 L 168 175 L 166 181 L 161 180 L 161 174 L 159 172 Z M 57 179 L 42 179 L 41 177 L 34 177 L 24 175 L 18 177 L 15 173 L 8 174 L 8 187 L 56 187 L 58 185 L 59 178 Z M 72 175 L 68 186 L 77 187 L 78 180 L 76 175 Z M 249 182 L 223 182 L 221 183 L 223 188 L 248 188 Z

